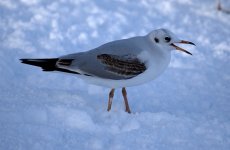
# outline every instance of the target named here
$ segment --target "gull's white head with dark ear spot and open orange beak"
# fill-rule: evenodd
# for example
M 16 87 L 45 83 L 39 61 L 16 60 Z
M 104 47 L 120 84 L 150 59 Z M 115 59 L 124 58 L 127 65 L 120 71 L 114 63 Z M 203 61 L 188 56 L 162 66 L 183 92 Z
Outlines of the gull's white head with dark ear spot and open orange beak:
M 173 34 L 171 31 L 167 29 L 154 30 L 150 32 L 147 36 L 150 38 L 151 42 L 153 42 L 154 45 L 161 47 L 161 49 L 163 50 L 168 50 L 168 51 L 179 50 L 192 55 L 187 50 L 176 46 L 175 43 L 192 44 L 192 45 L 195 44 L 189 41 L 179 40 L 175 34 Z

